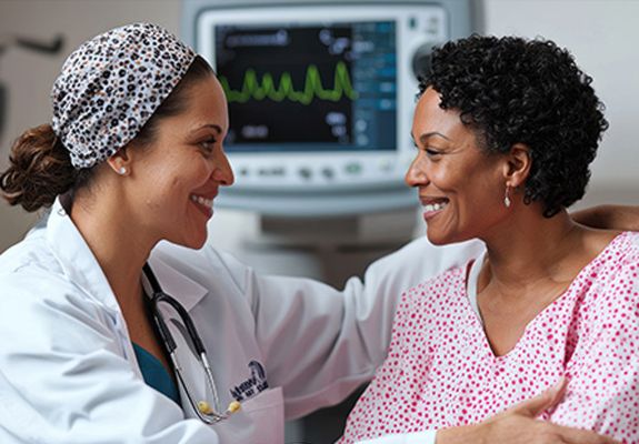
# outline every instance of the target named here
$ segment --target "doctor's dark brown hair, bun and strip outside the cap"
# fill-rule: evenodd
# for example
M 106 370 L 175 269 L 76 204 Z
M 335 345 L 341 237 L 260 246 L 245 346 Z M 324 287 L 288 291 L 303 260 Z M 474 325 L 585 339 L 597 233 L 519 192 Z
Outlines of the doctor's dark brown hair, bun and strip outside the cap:
M 160 121 L 178 115 L 187 108 L 190 87 L 213 74 L 209 63 L 196 57 L 187 73 L 127 147 L 144 149 L 151 145 Z M 69 151 L 51 125 L 43 124 L 24 131 L 13 142 L 9 168 L 0 173 L 0 190 L 9 204 L 19 204 L 32 212 L 51 206 L 60 194 L 89 186 L 97 168 L 99 165 L 74 169 Z

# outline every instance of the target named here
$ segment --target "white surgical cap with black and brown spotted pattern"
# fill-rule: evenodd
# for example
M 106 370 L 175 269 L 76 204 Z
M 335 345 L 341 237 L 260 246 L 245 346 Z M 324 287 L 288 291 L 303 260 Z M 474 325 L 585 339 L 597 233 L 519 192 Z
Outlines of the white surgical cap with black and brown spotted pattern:
M 196 58 L 166 29 L 133 23 L 78 48 L 53 84 L 52 128 L 76 169 L 91 168 L 131 141 Z

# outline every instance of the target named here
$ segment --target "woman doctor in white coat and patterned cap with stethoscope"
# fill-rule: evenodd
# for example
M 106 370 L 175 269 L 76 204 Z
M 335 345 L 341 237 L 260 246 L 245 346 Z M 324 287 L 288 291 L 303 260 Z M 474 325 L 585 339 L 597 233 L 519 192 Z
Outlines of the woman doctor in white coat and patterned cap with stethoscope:
M 482 249 L 423 263 L 420 241 L 342 292 L 202 249 L 213 199 L 233 182 L 227 105 L 208 64 L 157 26 L 81 46 L 52 104 L 52 124 L 16 141 L 0 181 L 10 203 L 51 206 L 0 256 L 2 443 L 282 443 L 284 415 L 372 377 L 402 289 Z M 192 320 L 217 393 L 187 322 L 149 302 L 152 275 Z

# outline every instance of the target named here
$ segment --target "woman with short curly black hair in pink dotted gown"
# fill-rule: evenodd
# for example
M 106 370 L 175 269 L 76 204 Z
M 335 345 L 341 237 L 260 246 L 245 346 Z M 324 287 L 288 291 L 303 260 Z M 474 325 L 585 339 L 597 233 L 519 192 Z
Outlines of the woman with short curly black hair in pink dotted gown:
M 532 442 L 538 421 L 510 438 L 496 423 L 562 379 L 531 418 L 639 443 L 639 235 L 567 213 L 608 127 L 590 83 L 550 41 L 473 36 L 433 54 L 406 181 L 431 242 L 478 238 L 487 253 L 402 295 L 341 443 Z

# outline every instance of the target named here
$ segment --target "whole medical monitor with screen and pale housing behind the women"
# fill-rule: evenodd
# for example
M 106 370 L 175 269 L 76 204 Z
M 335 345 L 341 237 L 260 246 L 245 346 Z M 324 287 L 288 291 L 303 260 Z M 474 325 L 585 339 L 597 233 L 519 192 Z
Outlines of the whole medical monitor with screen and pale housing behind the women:
M 229 105 L 236 184 L 220 203 L 287 216 L 415 205 L 403 175 L 415 154 L 416 70 L 452 37 L 453 1 L 455 11 L 416 1 L 191 1 L 193 44 Z

